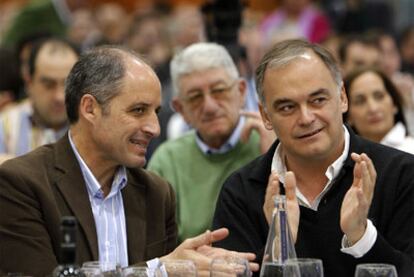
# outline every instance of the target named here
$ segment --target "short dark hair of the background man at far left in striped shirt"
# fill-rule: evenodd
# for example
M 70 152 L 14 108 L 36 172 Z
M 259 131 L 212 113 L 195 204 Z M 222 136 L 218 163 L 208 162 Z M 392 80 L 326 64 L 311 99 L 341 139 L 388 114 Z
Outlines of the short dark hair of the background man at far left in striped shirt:
M 36 70 L 36 61 L 37 56 L 39 55 L 40 50 L 45 45 L 52 45 L 55 49 L 69 49 L 73 51 L 77 56 L 79 56 L 79 49 L 71 42 L 64 38 L 59 37 L 46 37 L 39 40 L 36 40 L 32 46 L 29 56 L 29 74 L 33 76 Z

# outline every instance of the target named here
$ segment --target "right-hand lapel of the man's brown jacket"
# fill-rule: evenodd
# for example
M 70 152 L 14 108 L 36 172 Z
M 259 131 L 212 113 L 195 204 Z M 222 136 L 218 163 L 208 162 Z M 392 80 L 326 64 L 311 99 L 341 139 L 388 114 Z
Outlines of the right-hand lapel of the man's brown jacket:
M 147 205 L 145 186 L 139 184 L 138 178 L 128 171 L 128 185 L 122 190 L 125 221 L 128 238 L 129 264 L 145 259 Z

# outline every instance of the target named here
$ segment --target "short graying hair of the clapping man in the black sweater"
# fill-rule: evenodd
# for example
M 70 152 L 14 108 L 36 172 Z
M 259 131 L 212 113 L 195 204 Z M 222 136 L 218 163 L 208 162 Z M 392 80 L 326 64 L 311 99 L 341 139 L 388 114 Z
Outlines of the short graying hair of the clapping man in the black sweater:
M 266 69 L 283 67 L 309 51 L 315 53 L 316 56 L 322 60 L 331 73 L 333 80 L 337 84 L 338 90 L 341 88 L 341 71 L 339 70 L 335 58 L 328 50 L 318 44 L 313 44 L 301 39 L 285 40 L 275 44 L 273 48 L 263 56 L 258 68 L 256 69 L 256 89 L 259 100 L 262 104 L 265 103 L 263 81 Z M 298 79 L 298 81 L 300 82 L 300 79 Z

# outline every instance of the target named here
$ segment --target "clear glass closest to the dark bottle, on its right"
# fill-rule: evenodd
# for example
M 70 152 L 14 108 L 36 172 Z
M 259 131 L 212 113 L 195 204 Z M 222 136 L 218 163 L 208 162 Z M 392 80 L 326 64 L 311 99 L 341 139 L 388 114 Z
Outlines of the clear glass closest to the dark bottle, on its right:
M 84 262 L 81 271 L 86 277 L 122 277 L 122 269 L 116 262 Z

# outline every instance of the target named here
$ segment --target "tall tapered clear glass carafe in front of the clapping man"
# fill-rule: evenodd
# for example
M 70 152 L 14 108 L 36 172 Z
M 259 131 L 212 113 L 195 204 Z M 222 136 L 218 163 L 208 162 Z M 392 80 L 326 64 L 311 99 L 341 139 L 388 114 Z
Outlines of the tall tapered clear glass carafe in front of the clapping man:
M 275 208 L 263 255 L 260 277 L 283 276 L 283 264 L 296 258 L 295 244 L 289 229 L 284 195 L 274 197 Z

